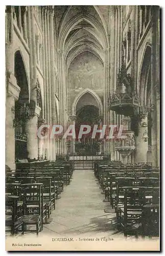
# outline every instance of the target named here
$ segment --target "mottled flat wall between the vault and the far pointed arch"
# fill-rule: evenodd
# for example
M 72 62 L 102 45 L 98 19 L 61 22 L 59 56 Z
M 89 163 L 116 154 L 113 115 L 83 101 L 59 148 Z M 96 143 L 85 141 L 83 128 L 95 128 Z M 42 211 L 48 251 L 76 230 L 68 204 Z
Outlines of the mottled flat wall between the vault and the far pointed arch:
M 101 98 L 103 103 L 103 63 L 94 54 L 83 52 L 72 61 L 68 69 L 67 97 L 69 114 L 71 114 L 72 104 L 75 97 L 87 88 L 94 91 Z

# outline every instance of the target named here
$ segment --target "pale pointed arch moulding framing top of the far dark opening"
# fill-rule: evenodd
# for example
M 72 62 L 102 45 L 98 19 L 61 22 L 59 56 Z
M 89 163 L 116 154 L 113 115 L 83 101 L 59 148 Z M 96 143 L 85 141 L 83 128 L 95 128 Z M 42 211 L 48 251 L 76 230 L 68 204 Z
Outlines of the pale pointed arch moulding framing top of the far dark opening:
M 91 96 L 93 96 L 97 103 L 98 103 L 98 106 L 99 106 L 99 115 L 102 116 L 103 115 L 103 104 L 101 102 L 101 99 L 100 97 L 94 92 L 92 91 L 91 89 L 89 88 L 86 88 L 84 89 L 83 91 L 81 91 L 75 98 L 74 102 L 73 102 L 73 105 L 72 105 L 72 115 L 75 116 L 76 115 L 76 106 L 77 106 L 77 103 L 79 101 L 79 99 L 86 93 L 89 93 L 91 94 Z

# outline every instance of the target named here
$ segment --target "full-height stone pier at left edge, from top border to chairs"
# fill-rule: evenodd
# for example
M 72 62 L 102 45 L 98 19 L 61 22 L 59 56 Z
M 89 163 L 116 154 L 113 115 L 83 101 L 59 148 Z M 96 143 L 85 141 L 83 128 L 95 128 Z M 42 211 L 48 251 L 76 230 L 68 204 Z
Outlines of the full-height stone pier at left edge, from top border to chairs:
M 19 98 L 20 88 L 14 76 L 13 48 L 13 7 L 6 9 L 6 164 L 15 169 L 15 130 L 13 128 L 15 101 Z

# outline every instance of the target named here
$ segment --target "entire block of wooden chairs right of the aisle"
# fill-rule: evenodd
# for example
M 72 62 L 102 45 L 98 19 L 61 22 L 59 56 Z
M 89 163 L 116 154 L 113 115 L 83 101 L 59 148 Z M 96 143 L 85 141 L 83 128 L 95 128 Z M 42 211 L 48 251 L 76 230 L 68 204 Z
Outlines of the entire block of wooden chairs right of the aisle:
M 116 214 L 116 226 L 127 234 L 159 234 L 159 169 L 152 164 L 95 164 L 102 194 Z M 107 209 L 105 210 L 107 212 Z M 150 218 L 150 219 L 149 219 Z

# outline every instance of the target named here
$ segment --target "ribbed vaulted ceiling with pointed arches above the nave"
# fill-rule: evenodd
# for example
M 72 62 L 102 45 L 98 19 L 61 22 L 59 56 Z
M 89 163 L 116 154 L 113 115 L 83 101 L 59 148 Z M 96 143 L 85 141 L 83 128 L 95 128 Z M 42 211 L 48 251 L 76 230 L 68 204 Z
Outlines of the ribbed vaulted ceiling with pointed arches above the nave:
M 57 47 L 64 51 L 66 71 L 80 53 L 89 51 L 102 62 L 108 47 L 109 6 L 56 6 Z

